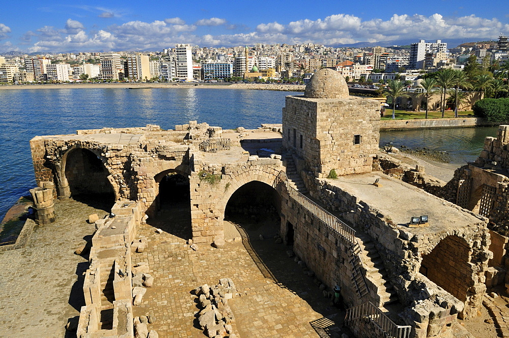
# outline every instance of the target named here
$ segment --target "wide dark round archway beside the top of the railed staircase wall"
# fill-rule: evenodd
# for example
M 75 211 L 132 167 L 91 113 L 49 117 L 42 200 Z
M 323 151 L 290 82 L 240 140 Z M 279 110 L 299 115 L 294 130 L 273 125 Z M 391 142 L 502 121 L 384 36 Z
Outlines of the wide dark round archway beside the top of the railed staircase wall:
M 242 227 L 249 236 L 274 237 L 280 229 L 281 198 L 266 183 L 251 181 L 237 189 L 224 210 L 224 238 L 237 234 L 235 227 Z

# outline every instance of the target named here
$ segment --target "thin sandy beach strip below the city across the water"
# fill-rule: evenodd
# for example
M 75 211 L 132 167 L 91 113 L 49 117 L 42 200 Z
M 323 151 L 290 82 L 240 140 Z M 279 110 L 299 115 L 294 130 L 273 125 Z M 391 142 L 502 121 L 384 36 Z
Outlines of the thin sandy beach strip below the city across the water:
M 304 85 L 293 84 L 214 84 L 214 83 L 61 83 L 0 85 L 0 90 L 12 89 L 90 89 L 90 88 L 210 88 L 210 89 L 261 89 L 304 91 Z

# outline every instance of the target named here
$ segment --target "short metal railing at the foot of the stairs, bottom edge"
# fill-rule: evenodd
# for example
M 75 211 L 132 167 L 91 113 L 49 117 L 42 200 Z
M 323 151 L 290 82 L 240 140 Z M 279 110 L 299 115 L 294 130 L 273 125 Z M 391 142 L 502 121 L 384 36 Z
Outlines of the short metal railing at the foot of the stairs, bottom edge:
M 408 338 L 410 336 L 410 325 L 397 325 L 389 317 L 387 317 L 375 304 L 372 302 L 363 303 L 347 310 L 345 316 L 345 324 L 354 320 L 362 318 L 369 319 L 383 330 L 387 337 L 391 338 Z

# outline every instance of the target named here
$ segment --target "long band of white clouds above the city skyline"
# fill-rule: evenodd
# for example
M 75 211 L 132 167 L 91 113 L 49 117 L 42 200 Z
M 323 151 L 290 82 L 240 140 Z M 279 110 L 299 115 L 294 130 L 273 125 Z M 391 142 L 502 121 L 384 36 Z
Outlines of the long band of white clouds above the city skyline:
M 111 12 L 112 13 L 112 12 Z M 198 35 L 201 25 L 223 25 L 224 34 L 210 32 Z M 37 32 L 28 32 L 21 44 L 36 41 L 30 51 L 66 50 L 161 50 L 177 43 L 201 46 L 238 46 L 255 43 L 320 43 L 324 45 L 351 44 L 361 41 L 418 39 L 476 39 L 496 38 L 500 32 L 509 32 L 509 25 L 497 19 L 475 15 L 443 17 L 440 14 L 424 16 L 397 15 L 387 19 L 362 20 L 349 14 L 335 14 L 316 20 L 302 19 L 288 23 L 260 23 L 254 30 L 245 26 L 237 30 L 224 19 L 210 18 L 186 24 L 178 17 L 152 22 L 129 21 L 107 28 L 88 30 L 79 21 L 68 19 L 64 28 L 44 26 Z M 201 28 L 202 30 L 204 28 Z M 205 28 L 206 29 L 206 28 Z M 240 32 L 244 33 L 240 33 Z M 0 39 L 10 33 L 10 28 L 0 24 Z M 31 40 L 32 39 L 32 40 Z

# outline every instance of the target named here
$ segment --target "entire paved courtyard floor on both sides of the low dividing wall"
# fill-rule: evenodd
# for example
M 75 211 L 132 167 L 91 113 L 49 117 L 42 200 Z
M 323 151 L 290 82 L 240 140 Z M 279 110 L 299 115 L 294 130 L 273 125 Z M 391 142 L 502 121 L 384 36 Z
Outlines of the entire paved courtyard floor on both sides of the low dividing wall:
M 243 242 L 224 249 L 198 244 L 194 252 L 185 242 L 190 221 L 182 210 L 185 206 L 177 204 L 142 225 L 138 235 L 148 238 L 149 248 L 133 254 L 133 262 L 148 262 L 155 277 L 134 315 L 155 315 L 151 327 L 161 337 L 204 337 L 194 323 L 198 308 L 191 290 L 224 277 L 232 278 L 241 294 L 230 301 L 241 337 L 341 336 L 344 313 L 323 298 L 284 244 L 260 240 L 254 236 L 258 229 L 246 223 L 248 231 L 240 229 Z M 88 261 L 73 252 L 94 232 L 88 215 L 102 218 L 107 212 L 68 200 L 55 201 L 55 213 L 57 222 L 36 226 L 26 248 L 0 253 L 2 338 L 74 336 L 64 326 L 84 305 L 82 272 Z M 164 232 L 155 233 L 156 227 Z

